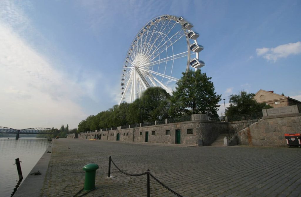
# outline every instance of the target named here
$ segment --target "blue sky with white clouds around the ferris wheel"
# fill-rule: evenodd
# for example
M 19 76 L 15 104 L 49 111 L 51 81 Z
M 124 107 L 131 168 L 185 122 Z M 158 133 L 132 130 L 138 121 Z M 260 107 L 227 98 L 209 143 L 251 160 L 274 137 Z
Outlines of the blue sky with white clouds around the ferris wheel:
M 201 70 L 226 107 L 243 90 L 301 100 L 300 8 L 299 0 L 2 0 L 0 126 L 77 128 L 118 104 L 130 44 L 163 14 L 194 24 Z

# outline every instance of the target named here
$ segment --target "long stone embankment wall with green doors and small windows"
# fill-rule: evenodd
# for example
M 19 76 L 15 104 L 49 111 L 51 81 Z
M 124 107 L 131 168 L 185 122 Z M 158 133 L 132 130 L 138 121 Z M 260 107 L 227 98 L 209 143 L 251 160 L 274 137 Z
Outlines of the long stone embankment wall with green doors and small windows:
M 145 142 L 145 135 L 148 132 L 148 143 L 176 143 L 176 130 L 180 130 L 180 143 L 188 146 L 209 146 L 220 133 L 228 131 L 227 122 L 194 120 L 187 122 L 169 123 L 163 125 L 153 125 L 146 127 L 128 128 L 113 131 L 94 131 L 79 134 L 79 139 L 95 139 L 101 136 L 101 140 L 117 140 L 119 134 L 120 141 Z M 188 130 L 192 129 L 192 134 Z M 154 132 L 153 132 L 154 131 Z M 166 131 L 169 131 L 167 134 Z M 74 138 L 74 135 L 68 135 Z M 133 138 L 134 136 L 134 138 Z

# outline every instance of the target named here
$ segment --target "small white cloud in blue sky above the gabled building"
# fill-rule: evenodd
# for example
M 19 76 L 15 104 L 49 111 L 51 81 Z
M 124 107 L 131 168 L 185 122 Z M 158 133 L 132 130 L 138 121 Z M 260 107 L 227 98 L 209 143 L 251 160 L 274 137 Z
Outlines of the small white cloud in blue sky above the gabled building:
M 257 56 L 262 56 L 268 61 L 276 62 L 279 58 L 301 54 L 301 42 L 279 45 L 275 48 L 258 48 L 256 53 Z

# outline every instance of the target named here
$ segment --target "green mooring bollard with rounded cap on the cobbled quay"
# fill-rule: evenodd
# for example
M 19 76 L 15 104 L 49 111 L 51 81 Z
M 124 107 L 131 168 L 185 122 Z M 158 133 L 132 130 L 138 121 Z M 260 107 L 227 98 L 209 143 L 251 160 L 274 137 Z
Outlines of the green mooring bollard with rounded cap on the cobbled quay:
M 99 167 L 97 164 L 87 164 L 82 168 L 84 171 L 86 171 L 84 184 L 85 191 L 95 189 L 95 174 L 98 168 Z

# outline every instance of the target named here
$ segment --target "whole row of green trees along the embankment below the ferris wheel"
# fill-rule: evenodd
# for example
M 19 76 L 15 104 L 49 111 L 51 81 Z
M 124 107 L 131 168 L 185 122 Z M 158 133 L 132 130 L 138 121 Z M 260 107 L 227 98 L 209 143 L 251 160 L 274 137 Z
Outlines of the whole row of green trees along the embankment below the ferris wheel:
M 163 88 L 148 88 L 133 103 L 114 105 L 97 115 L 88 116 L 79 123 L 78 132 L 154 122 L 200 112 L 216 115 L 221 95 L 214 92 L 211 78 L 200 70 L 196 72 L 189 70 L 182 74 L 172 96 Z

